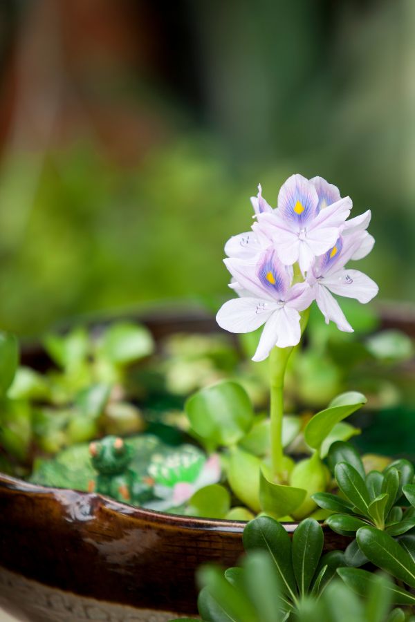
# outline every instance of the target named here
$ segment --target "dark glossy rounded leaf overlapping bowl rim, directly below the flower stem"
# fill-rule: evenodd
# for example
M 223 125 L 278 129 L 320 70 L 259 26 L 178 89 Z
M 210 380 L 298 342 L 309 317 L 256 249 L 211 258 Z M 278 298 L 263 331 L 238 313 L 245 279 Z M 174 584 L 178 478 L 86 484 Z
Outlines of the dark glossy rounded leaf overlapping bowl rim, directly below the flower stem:
M 282 591 L 295 601 L 297 585 L 291 561 L 291 540 L 284 527 L 268 516 L 254 518 L 243 530 L 243 547 L 247 552 L 261 549 L 270 554 Z

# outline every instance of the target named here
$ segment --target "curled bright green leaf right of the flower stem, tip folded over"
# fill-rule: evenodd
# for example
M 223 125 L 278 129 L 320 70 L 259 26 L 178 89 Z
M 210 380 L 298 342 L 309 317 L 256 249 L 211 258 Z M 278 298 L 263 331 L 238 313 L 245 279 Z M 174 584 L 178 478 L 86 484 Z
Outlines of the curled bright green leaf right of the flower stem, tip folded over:
M 308 422 L 304 430 L 306 443 L 313 449 L 320 449 L 324 439 L 338 422 L 356 412 L 367 399 L 362 393 L 350 391 L 338 395 L 324 411 L 320 411 Z

